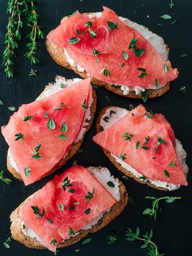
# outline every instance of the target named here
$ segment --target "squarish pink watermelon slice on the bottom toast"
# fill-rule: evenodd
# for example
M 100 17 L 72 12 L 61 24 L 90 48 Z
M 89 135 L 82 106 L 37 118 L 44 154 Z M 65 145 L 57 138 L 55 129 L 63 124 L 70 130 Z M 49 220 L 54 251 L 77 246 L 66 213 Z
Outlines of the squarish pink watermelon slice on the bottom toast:
M 72 186 L 66 187 L 66 191 L 64 191 L 62 185 L 66 177 Z M 69 189 L 75 189 L 75 192 L 71 193 Z M 88 198 L 85 196 L 93 189 L 93 198 L 88 202 Z M 47 197 L 47 195 L 49 196 Z M 64 211 L 59 206 L 61 203 L 64 205 Z M 75 205 L 74 203 L 79 204 Z M 77 233 L 85 225 L 88 225 L 91 219 L 98 217 L 115 203 L 115 198 L 85 167 L 76 165 L 70 167 L 61 176 L 55 176 L 53 181 L 48 182 L 45 187 L 35 193 L 22 207 L 21 219 L 42 239 L 42 244 L 51 251 L 55 251 L 56 245 L 51 244 L 53 239 L 57 243 L 64 241 L 71 236 L 69 227 L 74 233 Z M 34 214 L 31 206 L 38 206 L 41 213 L 44 207 L 45 215 L 38 219 L 38 215 Z M 69 209 L 72 206 L 74 209 Z M 88 208 L 90 211 L 85 214 L 85 210 Z M 53 223 L 48 222 L 47 218 L 51 219 Z

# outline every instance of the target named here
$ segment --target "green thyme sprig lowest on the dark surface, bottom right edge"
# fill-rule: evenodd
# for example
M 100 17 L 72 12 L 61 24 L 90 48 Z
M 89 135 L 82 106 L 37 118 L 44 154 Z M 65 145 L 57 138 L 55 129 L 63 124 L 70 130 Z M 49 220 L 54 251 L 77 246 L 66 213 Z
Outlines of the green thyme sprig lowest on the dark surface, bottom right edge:
M 158 246 L 151 240 L 153 237 L 153 230 L 150 230 L 150 233 L 146 231 L 145 234 L 143 234 L 141 237 L 139 237 L 140 230 L 139 227 L 137 227 L 136 232 L 132 230 L 130 227 L 126 229 L 126 240 L 128 241 L 135 241 L 140 240 L 143 242 L 141 249 L 147 248 L 148 249 L 148 255 L 150 256 L 163 256 L 164 254 L 160 254 L 158 252 Z

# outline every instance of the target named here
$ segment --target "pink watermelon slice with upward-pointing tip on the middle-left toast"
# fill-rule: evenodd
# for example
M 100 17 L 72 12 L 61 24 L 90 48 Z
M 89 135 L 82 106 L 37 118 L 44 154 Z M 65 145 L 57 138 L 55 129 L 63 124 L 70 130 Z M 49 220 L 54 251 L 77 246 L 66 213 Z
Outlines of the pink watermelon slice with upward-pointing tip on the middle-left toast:
M 88 102 L 91 90 L 90 79 L 85 79 L 69 86 L 58 93 L 42 100 L 37 100 L 27 105 L 22 105 L 9 119 L 7 126 L 2 127 L 2 134 L 9 144 L 12 157 L 18 167 L 20 175 L 26 185 L 38 181 L 45 176 L 72 146 L 82 127 L 85 110 L 82 108 L 84 101 Z M 66 105 L 61 110 L 61 102 Z M 48 117 L 44 115 L 47 112 Z M 33 116 L 29 121 L 23 121 L 26 116 Z M 52 118 L 55 129 L 47 127 L 47 122 Z M 61 126 L 66 122 L 67 131 L 62 132 Z M 23 134 L 21 140 L 15 141 L 15 134 Z M 66 135 L 66 139 L 59 138 Z M 34 159 L 34 148 L 39 144 L 39 155 L 42 159 Z M 31 174 L 26 176 L 24 170 L 29 167 Z

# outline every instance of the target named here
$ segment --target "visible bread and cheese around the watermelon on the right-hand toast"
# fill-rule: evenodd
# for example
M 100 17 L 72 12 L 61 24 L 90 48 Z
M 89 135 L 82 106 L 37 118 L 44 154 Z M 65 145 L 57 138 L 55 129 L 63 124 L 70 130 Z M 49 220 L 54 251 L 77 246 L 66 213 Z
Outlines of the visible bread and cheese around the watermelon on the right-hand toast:
M 103 124 L 105 123 L 104 116 L 110 116 L 111 110 L 115 111 L 115 113 L 113 113 L 114 116 L 111 121 L 111 124 L 115 123 L 116 121 L 118 121 L 120 118 L 122 118 L 128 113 L 128 110 L 126 110 L 125 108 L 118 108 L 115 106 L 108 106 L 107 108 L 103 108 L 96 120 L 96 133 L 99 133 L 102 130 L 104 130 L 104 127 L 103 127 Z M 107 125 L 109 124 L 108 122 L 109 120 L 107 120 L 106 122 Z M 102 150 L 104 151 L 104 154 L 110 159 L 110 161 L 115 165 L 115 167 L 118 168 L 118 170 L 126 174 L 126 176 L 134 178 L 134 180 L 138 181 L 139 183 L 147 184 L 148 186 L 153 187 L 155 189 L 166 190 L 166 191 L 180 188 L 180 185 L 176 185 L 176 184 L 168 184 L 161 181 L 153 182 L 153 181 L 150 181 L 149 179 L 142 180 L 140 176 L 137 176 L 136 173 L 131 171 L 131 169 L 129 170 L 128 168 L 123 167 L 123 165 L 121 165 L 120 162 L 117 162 L 117 160 L 115 159 L 114 156 L 112 156 L 110 151 L 107 151 L 104 148 L 102 148 Z M 185 176 L 186 176 L 188 173 L 188 165 L 186 165 L 185 163 L 185 158 L 187 157 L 187 154 L 183 149 L 183 146 L 180 143 L 180 140 L 177 140 L 177 139 L 176 139 L 176 151 L 177 151 L 177 156 L 180 160 L 180 164 L 183 167 L 183 172 L 185 173 Z

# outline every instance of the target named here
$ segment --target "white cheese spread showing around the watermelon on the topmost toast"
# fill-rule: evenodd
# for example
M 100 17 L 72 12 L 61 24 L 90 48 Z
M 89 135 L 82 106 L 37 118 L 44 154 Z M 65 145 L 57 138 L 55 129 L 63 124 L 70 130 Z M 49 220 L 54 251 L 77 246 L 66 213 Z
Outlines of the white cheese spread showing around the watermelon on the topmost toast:
M 88 17 L 89 18 L 93 18 L 93 17 L 98 17 L 99 18 L 99 17 L 101 17 L 101 12 L 91 13 L 91 14 L 88 15 Z M 164 39 L 162 37 L 159 37 L 157 34 L 153 33 L 149 29 L 145 28 L 145 26 L 139 25 L 136 22 L 128 20 L 128 18 L 123 18 L 123 17 L 119 17 L 119 18 L 126 25 L 131 26 L 132 28 L 139 31 L 139 33 L 142 34 L 142 36 L 145 37 L 145 39 L 147 39 L 147 41 L 149 41 L 151 45 L 153 45 L 155 50 L 157 50 L 158 53 L 161 54 L 161 56 L 164 57 L 165 61 L 168 59 L 169 50 L 166 48 Z M 80 71 L 80 72 L 83 72 L 85 70 L 83 67 L 80 67 L 80 65 L 74 64 L 74 59 L 72 59 L 69 56 L 69 54 L 67 53 L 65 48 L 64 48 L 64 54 L 66 56 L 66 60 L 69 62 L 69 64 L 72 67 L 76 67 L 78 69 L 78 71 Z M 112 84 L 112 85 L 114 85 L 114 84 Z M 131 89 L 126 85 L 115 84 L 115 86 L 120 86 L 120 90 L 123 91 L 124 95 L 127 95 L 130 91 L 135 91 L 136 94 L 140 94 L 142 91 L 145 91 L 145 89 L 140 87 L 140 86 L 134 86 L 134 88 L 131 88 Z M 161 87 L 164 87 L 164 86 L 165 85 L 159 85 L 158 89 L 160 89 Z M 153 89 L 154 90 L 154 86 L 151 85 L 151 86 L 149 86 L 148 89 Z

